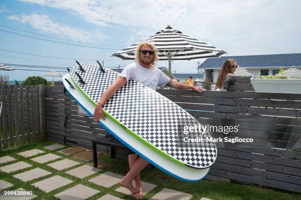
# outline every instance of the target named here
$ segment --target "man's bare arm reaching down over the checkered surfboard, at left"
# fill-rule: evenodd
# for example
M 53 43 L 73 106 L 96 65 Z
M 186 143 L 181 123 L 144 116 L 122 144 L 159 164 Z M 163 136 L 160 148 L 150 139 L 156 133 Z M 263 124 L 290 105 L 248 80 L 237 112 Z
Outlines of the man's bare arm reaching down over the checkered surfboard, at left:
M 101 98 L 98 100 L 97 106 L 96 106 L 96 108 L 94 110 L 94 114 L 93 114 L 94 122 L 98 123 L 98 120 L 99 120 L 100 117 L 103 120 L 105 120 L 105 116 L 103 114 L 102 106 L 101 105 L 104 105 L 116 93 L 116 91 L 119 90 L 120 87 L 124 86 L 125 84 L 126 84 L 126 78 L 120 76 L 103 93 L 103 95 L 101 96 Z

